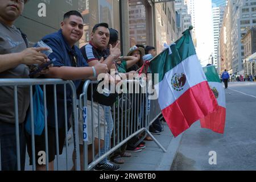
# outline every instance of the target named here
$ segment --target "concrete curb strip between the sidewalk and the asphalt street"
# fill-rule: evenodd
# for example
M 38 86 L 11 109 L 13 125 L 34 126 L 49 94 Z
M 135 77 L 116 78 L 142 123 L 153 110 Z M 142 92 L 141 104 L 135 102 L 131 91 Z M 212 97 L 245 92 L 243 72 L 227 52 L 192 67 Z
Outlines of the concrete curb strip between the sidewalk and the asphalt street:
M 156 171 L 170 171 L 172 163 L 174 162 L 177 149 L 180 146 L 180 141 L 182 138 L 183 134 L 180 134 L 176 138 L 172 138 L 168 148 L 167 152 L 163 154 L 163 157 L 161 159 L 161 162 L 159 166 L 155 169 Z

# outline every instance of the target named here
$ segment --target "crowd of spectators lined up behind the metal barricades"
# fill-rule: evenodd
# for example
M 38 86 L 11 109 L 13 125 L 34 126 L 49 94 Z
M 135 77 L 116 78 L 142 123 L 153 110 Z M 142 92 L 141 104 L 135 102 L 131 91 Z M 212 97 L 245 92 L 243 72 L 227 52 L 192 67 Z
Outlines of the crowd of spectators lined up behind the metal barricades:
M 60 78 L 63 80 L 72 80 L 76 90 L 77 96 L 82 92 L 82 85 L 84 80 L 88 78 L 95 78 L 100 73 L 105 73 L 109 80 L 114 80 L 117 84 L 122 79 L 123 75 L 134 74 L 142 67 L 144 61 L 152 59 L 156 56 L 155 48 L 152 46 L 136 45 L 130 48 L 126 56 L 121 56 L 118 42 L 118 31 L 110 28 L 107 23 L 98 23 L 93 27 L 91 40 L 89 44 L 78 48 L 75 44 L 79 42 L 84 32 L 84 19 L 78 11 L 69 11 L 64 14 L 63 22 L 60 24 L 60 30 L 52 34 L 44 36 L 41 40 L 52 49 L 52 53 L 47 57 L 42 51 L 47 51 L 48 48 L 28 48 L 26 36 L 23 32 L 14 26 L 15 20 L 22 14 L 26 0 L 5 0 L 0 4 L 0 78 L 31 78 L 30 65 L 45 64 L 49 60 L 56 59 L 52 65 L 43 69 L 35 77 L 38 78 Z M 39 40 L 40 41 L 40 40 Z M 115 71 L 114 77 L 110 74 L 110 69 Z M 146 71 L 150 73 L 150 69 Z M 46 86 L 47 90 L 47 111 L 48 111 L 48 154 L 49 154 L 49 170 L 54 169 L 56 150 L 56 125 L 55 125 L 55 105 L 53 86 Z M 63 85 L 57 85 L 57 131 L 59 134 L 59 154 L 62 154 L 65 141 L 65 114 L 64 114 L 64 100 L 67 100 L 67 118 L 72 117 L 72 91 L 67 86 L 67 94 L 64 98 Z M 15 137 L 15 111 L 13 88 L 0 87 L 0 143 L 1 143 L 1 164 L 2 170 L 16 170 L 18 169 L 16 156 L 16 137 Z M 94 92 L 95 93 L 95 92 Z M 88 91 L 88 100 L 94 97 L 90 96 Z M 96 94 L 95 94 L 96 95 Z M 117 96 L 108 101 L 104 99 L 105 96 L 99 94 L 95 96 L 94 102 L 88 102 L 88 162 L 92 162 L 92 154 L 97 154 L 100 146 L 100 154 L 105 154 L 112 145 L 110 138 L 113 136 L 113 103 L 117 101 Z M 98 98 L 97 98 L 98 97 Z M 147 97 L 147 94 L 143 94 Z M 30 157 L 30 165 L 32 165 L 32 141 L 31 134 L 24 130 L 26 122 L 28 107 L 30 106 L 30 92 L 28 87 L 18 88 L 18 113 L 19 113 L 19 138 L 20 138 L 20 167 L 24 170 L 26 146 Z M 103 99 L 102 99 L 103 98 Z M 136 97 L 135 97 L 136 98 Z M 98 99 L 97 102 L 95 102 Z M 141 100 L 134 100 L 141 103 L 139 110 L 137 110 L 138 121 L 145 122 L 142 118 L 146 113 L 146 102 Z M 98 110 L 98 104 L 100 109 Z M 93 105 L 93 106 L 91 106 Z M 92 107 L 92 110 L 90 110 Z M 91 113 L 91 114 L 90 114 Z M 134 110 L 135 113 L 135 110 Z M 98 115 L 100 114 L 100 115 Z M 131 115 L 130 117 L 137 117 Z M 94 119 L 94 126 L 90 122 Z M 115 117 L 117 120 L 117 117 Z M 98 126 L 98 123 L 100 126 Z M 104 131 L 106 128 L 106 131 Z M 71 122 L 68 122 L 68 129 L 71 129 Z M 127 126 L 120 130 L 127 129 Z M 45 129 L 44 129 L 45 130 Z M 46 137 L 42 135 L 35 136 L 35 162 L 36 170 L 46 170 L 46 165 L 40 164 L 38 152 L 46 151 Z M 92 138 L 93 131 L 96 138 Z M 160 134 L 162 126 L 159 118 L 150 126 L 150 131 L 153 134 Z M 133 131 L 134 132 L 134 131 Z M 80 142 L 80 163 L 83 169 L 83 127 L 82 117 L 79 117 L 79 142 Z M 104 135 L 105 134 L 105 135 Z M 124 163 L 122 157 L 130 157 L 130 152 L 139 152 L 145 148 L 145 142 L 142 141 L 143 134 L 140 134 L 118 148 L 109 158 L 103 159 L 98 163 L 95 170 L 116 171 L 119 169 L 118 164 Z M 98 138 L 100 137 L 100 138 Z M 152 140 L 149 136 L 144 138 Z M 135 143 L 140 143 L 135 146 Z M 92 147 L 94 144 L 94 147 Z M 93 152 L 94 148 L 94 152 Z M 75 156 L 74 156 L 75 159 Z M 112 162 L 110 162 L 111 160 Z M 116 163 L 116 164 L 115 164 Z M 72 168 L 74 169 L 74 167 Z

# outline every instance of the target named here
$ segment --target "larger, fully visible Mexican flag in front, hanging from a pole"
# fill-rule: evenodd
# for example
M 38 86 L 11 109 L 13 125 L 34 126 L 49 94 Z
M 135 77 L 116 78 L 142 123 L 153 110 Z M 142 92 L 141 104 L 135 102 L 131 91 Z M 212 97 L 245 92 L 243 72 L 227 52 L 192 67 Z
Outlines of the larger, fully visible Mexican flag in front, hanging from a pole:
M 217 101 L 199 63 L 189 30 L 150 62 L 163 117 L 174 137 L 217 109 Z

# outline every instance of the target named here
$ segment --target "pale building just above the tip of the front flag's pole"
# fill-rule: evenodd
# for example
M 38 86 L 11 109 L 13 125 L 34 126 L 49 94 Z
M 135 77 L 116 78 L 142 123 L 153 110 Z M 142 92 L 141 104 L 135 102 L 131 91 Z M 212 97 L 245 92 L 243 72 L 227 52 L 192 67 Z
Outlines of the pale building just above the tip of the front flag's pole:
M 181 36 L 181 33 L 192 25 L 192 19 L 191 15 L 188 14 L 188 6 L 184 4 L 184 0 L 175 1 L 175 11 L 180 20 L 177 35 Z

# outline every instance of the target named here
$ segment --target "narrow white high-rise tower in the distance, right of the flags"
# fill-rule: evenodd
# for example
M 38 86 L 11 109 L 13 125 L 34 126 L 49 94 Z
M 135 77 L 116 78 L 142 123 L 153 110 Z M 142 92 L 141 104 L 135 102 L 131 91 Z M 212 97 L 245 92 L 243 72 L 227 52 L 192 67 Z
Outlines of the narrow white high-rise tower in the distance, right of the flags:
M 221 56 L 219 52 L 219 39 L 220 39 L 220 29 L 223 20 L 225 6 L 219 6 L 212 8 L 212 17 L 213 17 L 213 43 L 214 43 L 214 50 L 213 50 L 213 64 L 216 68 L 218 68 L 218 61 L 221 60 Z

